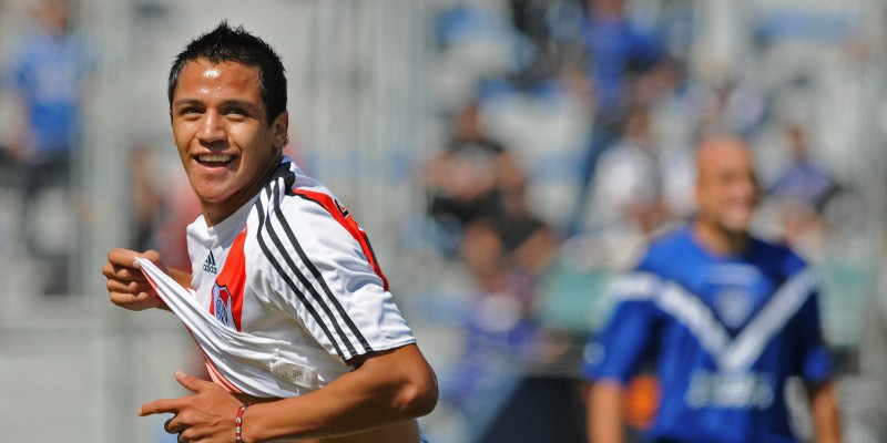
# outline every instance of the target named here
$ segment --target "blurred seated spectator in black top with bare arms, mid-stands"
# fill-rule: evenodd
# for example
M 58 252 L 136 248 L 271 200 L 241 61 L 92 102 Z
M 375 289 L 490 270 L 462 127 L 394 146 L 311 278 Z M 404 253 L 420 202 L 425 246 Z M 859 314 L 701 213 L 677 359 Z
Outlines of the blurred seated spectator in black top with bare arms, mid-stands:
M 528 206 L 517 158 L 483 134 L 476 103 L 457 114 L 452 140 L 425 174 L 429 213 L 455 238 L 449 249 L 458 250 L 482 290 L 506 290 L 514 270 L 544 270 L 552 233 Z

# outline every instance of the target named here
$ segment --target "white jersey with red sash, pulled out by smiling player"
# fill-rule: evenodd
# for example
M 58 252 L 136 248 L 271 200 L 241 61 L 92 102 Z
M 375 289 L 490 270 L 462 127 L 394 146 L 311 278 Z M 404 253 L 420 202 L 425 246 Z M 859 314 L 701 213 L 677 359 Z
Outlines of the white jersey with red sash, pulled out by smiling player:
M 299 395 L 355 357 L 416 341 L 366 234 L 288 157 L 222 223 L 197 217 L 187 245 L 193 289 L 143 269 L 231 392 Z

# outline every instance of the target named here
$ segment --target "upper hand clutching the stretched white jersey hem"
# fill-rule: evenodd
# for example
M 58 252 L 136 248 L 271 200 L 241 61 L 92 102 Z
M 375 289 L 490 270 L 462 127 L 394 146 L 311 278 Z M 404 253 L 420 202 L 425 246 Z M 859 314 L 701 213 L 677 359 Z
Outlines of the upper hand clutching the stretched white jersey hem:
M 166 272 L 160 254 L 154 250 L 140 254 L 129 249 L 112 249 L 108 253 L 108 262 L 102 268 L 102 274 L 108 278 L 106 286 L 111 302 L 133 311 L 165 306 L 142 274 L 141 265 L 135 261 L 136 257 L 151 260 Z

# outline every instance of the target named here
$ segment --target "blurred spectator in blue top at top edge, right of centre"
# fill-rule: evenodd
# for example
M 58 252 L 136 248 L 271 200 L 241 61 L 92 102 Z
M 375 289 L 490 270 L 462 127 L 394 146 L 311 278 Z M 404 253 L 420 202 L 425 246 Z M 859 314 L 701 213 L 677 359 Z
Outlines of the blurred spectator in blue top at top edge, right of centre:
M 583 31 L 590 58 L 587 75 L 594 122 L 580 165 L 579 199 L 570 222 L 570 234 L 583 228 L 598 158 L 621 138 L 626 110 L 635 101 L 636 84 L 663 56 L 659 37 L 635 25 L 626 17 L 622 0 L 588 0 Z

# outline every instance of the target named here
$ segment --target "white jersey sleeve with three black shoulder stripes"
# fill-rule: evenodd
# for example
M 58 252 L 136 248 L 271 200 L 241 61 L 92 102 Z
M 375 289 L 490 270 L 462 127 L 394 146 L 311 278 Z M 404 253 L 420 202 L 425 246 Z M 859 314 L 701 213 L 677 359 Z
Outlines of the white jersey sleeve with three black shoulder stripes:
M 289 195 L 256 234 L 262 271 L 274 288 L 268 301 L 343 361 L 416 341 L 366 237 L 349 230 L 347 219 L 340 205 Z

